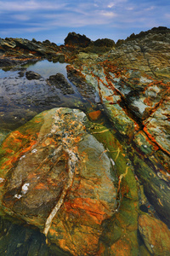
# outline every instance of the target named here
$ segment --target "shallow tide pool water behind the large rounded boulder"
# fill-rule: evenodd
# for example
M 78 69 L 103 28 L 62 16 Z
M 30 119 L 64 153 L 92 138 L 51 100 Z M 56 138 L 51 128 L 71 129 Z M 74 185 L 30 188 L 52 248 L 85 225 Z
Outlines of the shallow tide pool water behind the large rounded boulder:
M 66 77 L 67 63 L 53 63 L 47 60 L 37 61 L 0 73 L 0 123 L 1 130 L 14 130 L 23 125 L 37 113 L 56 107 L 81 108 L 89 107 L 89 102 L 82 98 L 77 87 Z M 41 75 L 41 79 L 26 79 L 26 71 Z M 20 71 L 24 72 L 20 76 Z M 59 88 L 49 85 L 50 75 L 62 73 L 71 84 L 74 94 L 64 95 Z

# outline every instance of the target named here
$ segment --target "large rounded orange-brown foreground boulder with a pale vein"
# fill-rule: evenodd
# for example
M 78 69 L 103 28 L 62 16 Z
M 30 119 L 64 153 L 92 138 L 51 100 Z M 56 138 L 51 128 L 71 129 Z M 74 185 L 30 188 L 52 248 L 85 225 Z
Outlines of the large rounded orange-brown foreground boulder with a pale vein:
M 87 125 L 79 110 L 54 108 L 10 133 L 0 148 L 3 211 L 73 255 L 97 253 L 101 224 L 117 207 L 111 160 Z

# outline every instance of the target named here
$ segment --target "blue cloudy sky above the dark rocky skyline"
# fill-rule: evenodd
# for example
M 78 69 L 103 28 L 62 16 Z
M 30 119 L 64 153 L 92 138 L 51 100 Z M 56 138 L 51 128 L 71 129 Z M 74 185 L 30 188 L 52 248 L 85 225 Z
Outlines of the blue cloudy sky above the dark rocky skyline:
M 0 0 L 0 38 L 64 44 L 77 32 L 116 42 L 154 26 L 170 28 L 169 0 Z

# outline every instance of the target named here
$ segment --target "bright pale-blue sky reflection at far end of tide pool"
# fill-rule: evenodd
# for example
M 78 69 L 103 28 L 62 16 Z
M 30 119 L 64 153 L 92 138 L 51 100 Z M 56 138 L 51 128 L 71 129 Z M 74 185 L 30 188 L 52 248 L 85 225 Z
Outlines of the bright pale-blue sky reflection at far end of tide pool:
M 50 61 L 37 61 L 35 64 L 29 64 L 24 67 L 27 67 L 27 70 L 34 71 L 36 73 L 39 73 L 43 78 L 48 79 L 50 75 L 54 75 L 56 73 L 63 73 L 65 77 L 67 77 L 66 74 L 66 66 L 67 63 L 53 63 Z

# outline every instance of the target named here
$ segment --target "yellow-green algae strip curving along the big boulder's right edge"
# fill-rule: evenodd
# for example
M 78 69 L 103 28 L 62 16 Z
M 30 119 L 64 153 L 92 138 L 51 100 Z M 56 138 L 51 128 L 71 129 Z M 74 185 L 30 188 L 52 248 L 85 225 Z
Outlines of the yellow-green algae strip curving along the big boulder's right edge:
M 126 148 L 116 139 L 113 130 L 95 124 L 91 132 L 107 148 L 114 172 L 117 174 L 119 188 L 119 207 L 111 219 L 104 223 L 105 230 L 100 238 L 99 255 L 138 255 L 139 195 L 133 166 L 128 159 Z

